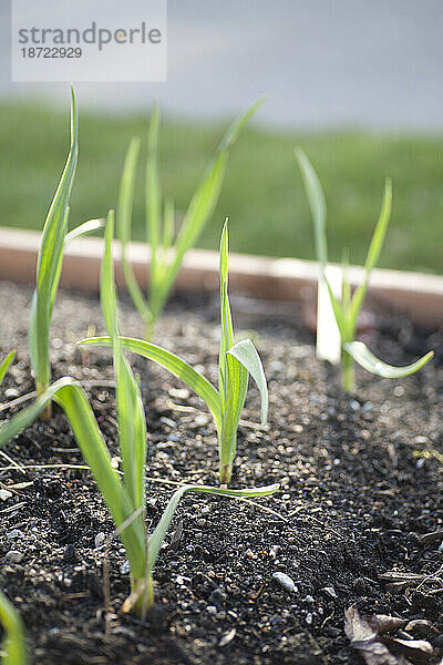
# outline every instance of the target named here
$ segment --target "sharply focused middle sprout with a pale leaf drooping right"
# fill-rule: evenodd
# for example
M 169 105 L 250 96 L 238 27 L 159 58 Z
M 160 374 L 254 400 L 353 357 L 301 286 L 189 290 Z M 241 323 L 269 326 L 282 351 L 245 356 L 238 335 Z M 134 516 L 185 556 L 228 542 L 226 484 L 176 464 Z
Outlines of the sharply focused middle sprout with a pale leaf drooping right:
M 123 347 L 144 358 L 155 360 L 173 375 L 184 380 L 209 409 L 218 434 L 219 480 L 227 484 L 233 474 L 237 447 L 237 430 L 246 400 L 249 374 L 256 381 L 261 397 L 261 424 L 267 421 L 268 389 L 260 357 L 250 339 L 234 342 L 234 329 L 228 298 L 228 223 L 226 221 L 220 241 L 220 324 L 222 336 L 218 357 L 218 390 L 185 360 L 171 351 L 144 341 L 122 337 Z M 110 337 L 91 337 L 81 345 L 112 345 Z

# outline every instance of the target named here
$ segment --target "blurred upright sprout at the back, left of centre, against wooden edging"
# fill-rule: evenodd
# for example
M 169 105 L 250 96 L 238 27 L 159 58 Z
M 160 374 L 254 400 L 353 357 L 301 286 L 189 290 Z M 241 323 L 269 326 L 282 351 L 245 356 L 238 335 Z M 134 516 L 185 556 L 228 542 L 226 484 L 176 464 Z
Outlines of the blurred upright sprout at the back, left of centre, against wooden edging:
M 162 201 L 158 176 L 158 110 L 154 109 L 148 130 L 145 196 L 146 242 L 151 246 L 150 286 L 145 297 L 140 288 L 127 258 L 131 239 L 134 181 L 140 140 L 133 139 L 126 153 L 117 207 L 117 237 L 122 246 L 122 266 L 132 300 L 146 325 L 146 339 L 153 336 L 155 323 L 163 311 L 165 301 L 181 269 L 185 254 L 197 242 L 205 224 L 210 218 L 220 194 L 230 147 L 241 129 L 261 104 L 261 100 L 243 117 L 234 122 L 219 144 L 213 162 L 207 167 L 195 191 L 184 219 L 174 241 L 175 211 L 169 198 Z

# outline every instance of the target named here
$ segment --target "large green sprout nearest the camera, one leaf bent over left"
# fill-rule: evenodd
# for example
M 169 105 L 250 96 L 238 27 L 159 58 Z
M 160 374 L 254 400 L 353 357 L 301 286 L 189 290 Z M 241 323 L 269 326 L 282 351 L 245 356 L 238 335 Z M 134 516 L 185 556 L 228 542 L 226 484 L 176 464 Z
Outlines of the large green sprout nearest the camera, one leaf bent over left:
M 111 454 L 103 440 L 94 413 L 80 383 L 64 377 L 50 386 L 31 406 L 0 427 L 0 446 L 32 423 L 40 411 L 54 400 L 64 410 L 79 447 L 111 510 L 130 562 L 132 593 L 128 604 L 138 615 L 152 605 L 153 569 L 174 512 L 186 492 L 225 497 L 265 497 L 276 492 L 278 484 L 248 490 L 228 490 L 207 485 L 183 485 L 173 494 L 157 526 L 146 538 L 145 528 L 145 462 L 146 420 L 138 385 L 123 356 L 124 340 L 119 336 L 117 300 L 111 255 L 113 213 L 107 219 L 105 254 L 101 274 L 101 301 L 112 346 L 115 371 L 115 397 L 119 423 L 122 478 L 112 466 Z M 127 604 L 126 604 L 127 606 Z

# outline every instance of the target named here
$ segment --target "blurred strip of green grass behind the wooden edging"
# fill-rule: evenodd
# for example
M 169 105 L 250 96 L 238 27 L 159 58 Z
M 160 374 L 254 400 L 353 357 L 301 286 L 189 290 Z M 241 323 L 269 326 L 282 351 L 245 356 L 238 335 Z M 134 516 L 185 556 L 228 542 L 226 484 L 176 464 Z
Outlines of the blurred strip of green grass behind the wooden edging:
M 229 120 L 217 124 L 166 117 L 161 131 L 164 192 L 184 212 Z M 100 116 L 80 111 L 80 162 L 71 226 L 105 216 L 117 201 L 130 139 L 146 137 L 147 116 Z M 0 224 L 40 229 L 69 144 L 66 112 L 42 104 L 0 104 Z M 313 258 L 313 234 L 293 146 L 316 166 L 328 202 L 329 255 L 343 247 L 364 260 L 381 204 L 393 178 L 394 205 L 383 267 L 443 273 L 443 136 L 357 131 L 297 133 L 248 127 L 231 153 L 216 213 L 198 246 L 217 248 L 230 217 L 233 250 Z M 144 143 L 145 147 L 145 143 Z M 145 155 L 143 155 L 144 157 Z M 144 164 L 140 163 L 134 238 L 144 239 Z

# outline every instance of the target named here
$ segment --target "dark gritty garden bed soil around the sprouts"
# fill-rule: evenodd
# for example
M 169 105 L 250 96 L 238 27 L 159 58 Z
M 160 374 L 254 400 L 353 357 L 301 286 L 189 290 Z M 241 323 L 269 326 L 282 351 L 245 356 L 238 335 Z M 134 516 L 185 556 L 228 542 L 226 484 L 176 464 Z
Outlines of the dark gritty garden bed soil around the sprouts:
M 30 289 L 0 285 L 0 352 L 18 349 L 0 388 L 0 419 L 20 410 L 25 402 L 17 401 L 33 389 L 30 298 Z M 175 298 L 156 334 L 156 341 L 213 381 L 217 306 L 216 297 Z M 237 331 L 254 335 L 262 356 L 270 400 L 268 424 L 260 427 L 259 396 L 250 386 L 231 485 L 279 482 L 281 491 L 254 502 L 186 495 L 155 567 L 153 610 L 145 621 L 122 614 L 130 591 L 125 553 L 117 538 L 106 545 L 110 513 L 55 407 L 50 422 L 25 430 L 0 458 L 0 581 L 24 621 L 33 662 L 357 664 L 361 657 L 343 628 L 353 604 L 362 615 L 403 618 L 391 636 L 430 642 L 432 654 L 410 648 L 408 662 L 440 662 L 442 336 L 379 313 L 378 330 L 365 335 L 383 359 L 404 364 L 435 348 L 435 361 L 401 381 L 358 371 L 356 395 L 346 397 L 337 368 L 316 359 L 297 307 L 239 297 L 231 306 Z M 82 381 L 117 464 L 111 356 L 81 352 L 74 344 L 92 326 L 104 332 L 99 301 L 61 291 L 51 336 L 53 376 Z M 121 329 L 143 334 L 125 301 Z M 217 484 L 217 444 L 197 397 L 162 368 L 130 358 L 148 422 L 151 530 L 173 483 Z M 275 573 L 288 575 L 293 589 Z M 413 620 L 420 621 L 408 625 Z M 380 661 L 388 662 L 405 661 Z

